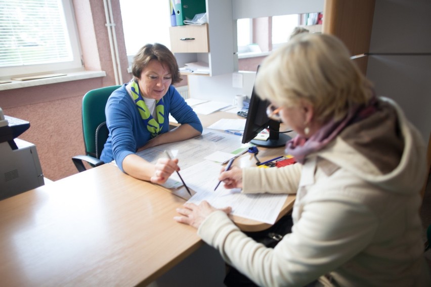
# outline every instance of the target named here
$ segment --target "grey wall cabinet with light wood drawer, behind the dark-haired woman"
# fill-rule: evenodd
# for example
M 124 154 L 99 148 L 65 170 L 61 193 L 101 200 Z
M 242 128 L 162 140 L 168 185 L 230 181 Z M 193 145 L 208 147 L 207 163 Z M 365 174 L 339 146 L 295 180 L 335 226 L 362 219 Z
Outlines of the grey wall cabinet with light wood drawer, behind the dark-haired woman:
M 171 51 L 180 67 L 200 62 L 207 65 L 210 76 L 233 73 L 238 59 L 232 0 L 206 0 L 205 4 L 207 24 L 170 27 Z

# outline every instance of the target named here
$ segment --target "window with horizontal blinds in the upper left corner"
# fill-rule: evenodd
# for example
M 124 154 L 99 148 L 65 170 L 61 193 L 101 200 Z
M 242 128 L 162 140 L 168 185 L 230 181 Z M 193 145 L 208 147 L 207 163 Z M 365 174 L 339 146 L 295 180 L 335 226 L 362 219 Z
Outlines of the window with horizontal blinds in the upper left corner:
M 70 0 L 0 0 L 2 77 L 83 70 Z

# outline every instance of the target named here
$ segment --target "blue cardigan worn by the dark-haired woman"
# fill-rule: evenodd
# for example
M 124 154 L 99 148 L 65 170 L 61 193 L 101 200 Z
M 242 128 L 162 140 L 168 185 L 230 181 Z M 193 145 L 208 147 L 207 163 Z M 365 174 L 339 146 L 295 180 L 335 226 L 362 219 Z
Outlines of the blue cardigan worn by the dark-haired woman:
M 136 151 L 151 139 L 151 133 L 144 125 L 135 102 L 127 93 L 126 84 L 110 95 L 105 107 L 106 124 L 109 136 L 100 159 L 105 162 L 115 160 L 122 170 L 124 158 Z M 189 124 L 202 132 L 202 124 L 192 108 L 187 105 L 180 93 L 171 85 L 163 96 L 164 122 L 160 133 L 169 131 L 169 113 L 180 123 Z

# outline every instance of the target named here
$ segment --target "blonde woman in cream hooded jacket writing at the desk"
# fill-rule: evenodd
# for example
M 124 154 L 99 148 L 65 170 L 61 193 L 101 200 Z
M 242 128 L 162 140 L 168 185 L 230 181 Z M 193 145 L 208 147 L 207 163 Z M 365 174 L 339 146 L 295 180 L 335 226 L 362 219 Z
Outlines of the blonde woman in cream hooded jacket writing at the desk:
M 274 248 L 241 232 L 230 208 L 178 209 L 226 262 L 262 286 L 430 286 L 419 190 L 426 176 L 418 131 L 331 35 L 292 37 L 262 63 L 255 87 L 269 116 L 297 136 L 298 164 L 234 168 L 219 179 L 242 193 L 296 193 L 293 227 Z M 318 280 L 318 281 L 316 281 Z

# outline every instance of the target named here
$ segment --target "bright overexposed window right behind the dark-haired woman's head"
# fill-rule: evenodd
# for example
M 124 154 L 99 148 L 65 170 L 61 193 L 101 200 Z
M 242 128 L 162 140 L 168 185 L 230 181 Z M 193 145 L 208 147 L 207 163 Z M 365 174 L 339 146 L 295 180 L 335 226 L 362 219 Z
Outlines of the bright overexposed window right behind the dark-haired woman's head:
M 142 0 L 120 0 L 128 58 L 133 58 L 148 43 L 161 43 L 170 49 L 169 1 L 158 0 L 150 4 Z

